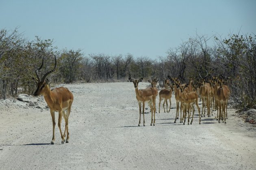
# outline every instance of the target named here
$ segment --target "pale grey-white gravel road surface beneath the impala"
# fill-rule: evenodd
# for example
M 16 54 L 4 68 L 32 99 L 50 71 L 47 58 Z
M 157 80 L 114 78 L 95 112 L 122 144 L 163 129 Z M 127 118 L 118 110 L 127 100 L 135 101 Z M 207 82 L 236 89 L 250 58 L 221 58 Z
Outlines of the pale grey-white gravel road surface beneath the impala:
M 139 88 L 147 85 L 139 83 Z M 55 144 L 50 144 L 52 119 L 43 108 L 42 96 L 35 98 L 41 108 L 0 101 L 1 170 L 256 169 L 255 127 L 243 123 L 232 108 L 228 108 L 227 124 L 218 123 L 214 112 L 210 119 L 202 117 L 199 125 L 196 109 L 193 124 L 183 125 L 174 123 L 173 95 L 170 113 L 164 113 L 162 106 L 161 113 L 156 113 L 156 126 L 150 126 L 148 109 L 146 126 L 138 127 L 139 106 L 132 83 L 63 86 L 74 95 L 70 139 L 65 144 L 61 144 L 58 126 Z M 159 97 L 156 110 L 158 102 Z

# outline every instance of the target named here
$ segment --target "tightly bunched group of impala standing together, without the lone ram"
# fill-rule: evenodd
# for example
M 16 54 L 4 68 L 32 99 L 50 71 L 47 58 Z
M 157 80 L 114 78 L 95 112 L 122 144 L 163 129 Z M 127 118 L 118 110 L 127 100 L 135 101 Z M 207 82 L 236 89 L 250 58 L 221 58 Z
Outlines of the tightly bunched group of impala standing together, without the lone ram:
M 199 74 L 200 75 L 200 74 Z M 156 88 L 156 83 L 158 80 L 156 78 L 152 78 L 149 80 L 151 83 L 151 87 L 145 89 L 138 89 L 138 84 L 141 82 L 143 78 L 139 80 L 132 79 L 129 77 L 129 81 L 133 82 L 135 87 L 136 98 L 139 102 L 139 126 L 141 124 L 141 103 L 142 103 L 142 113 L 143 113 L 143 126 L 145 126 L 144 119 L 144 109 L 145 102 L 148 102 L 148 105 L 151 109 L 151 124 L 153 123 L 153 114 L 154 114 L 154 123 L 155 125 L 155 114 L 156 114 L 156 96 L 158 96 L 158 89 Z M 162 100 L 163 108 L 165 112 L 165 103 L 166 103 L 166 111 L 169 112 L 171 109 L 171 96 L 172 91 L 174 91 L 175 99 L 176 99 L 176 120 L 179 119 L 179 110 L 180 110 L 180 123 L 185 124 L 186 117 L 188 117 L 188 125 L 192 124 L 193 117 L 195 113 L 194 105 L 197 106 L 197 110 L 199 113 L 199 124 L 201 124 L 201 115 L 200 108 L 198 106 L 199 95 L 200 99 L 202 98 L 202 116 L 205 117 L 205 110 L 207 108 L 207 116 L 210 117 L 213 115 L 213 109 L 217 110 L 217 120 L 222 120 L 226 123 L 227 119 L 227 105 L 228 99 L 230 96 L 230 89 L 227 85 L 223 85 L 226 79 L 222 76 L 220 77 L 210 77 L 207 76 L 202 78 L 198 78 L 198 81 L 193 81 L 192 78 L 189 79 L 189 83 L 182 84 L 178 78 L 167 77 L 164 81 L 165 89 L 162 89 L 159 92 L 159 110 L 160 113 L 160 105 Z M 168 88 L 169 87 L 169 88 Z M 199 95 L 198 95 L 199 94 Z M 170 106 L 168 110 L 168 102 L 169 100 Z M 211 108 L 211 110 L 210 110 Z M 191 117 L 191 110 L 193 112 Z M 183 112 L 183 114 L 182 114 Z M 191 117 L 191 121 L 189 121 Z

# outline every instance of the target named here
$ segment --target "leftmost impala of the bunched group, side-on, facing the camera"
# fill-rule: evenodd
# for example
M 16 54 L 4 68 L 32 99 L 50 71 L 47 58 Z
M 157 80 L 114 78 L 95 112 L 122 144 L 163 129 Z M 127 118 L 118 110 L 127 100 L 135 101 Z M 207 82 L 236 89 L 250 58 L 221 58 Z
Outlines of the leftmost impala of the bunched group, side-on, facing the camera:
M 143 112 L 143 126 L 145 126 L 145 116 L 144 116 L 144 110 L 145 110 L 145 102 L 148 102 L 148 105 L 150 106 L 151 109 L 151 126 L 153 123 L 153 112 L 154 112 L 154 124 L 156 122 L 156 96 L 157 96 L 157 91 L 155 87 L 148 87 L 146 89 L 138 89 L 138 84 L 141 82 L 143 78 L 139 80 L 131 79 L 129 77 L 129 81 L 133 83 L 135 87 L 135 93 L 136 93 L 136 98 L 139 102 L 139 125 L 141 124 L 141 102 L 142 102 L 142 112 Z

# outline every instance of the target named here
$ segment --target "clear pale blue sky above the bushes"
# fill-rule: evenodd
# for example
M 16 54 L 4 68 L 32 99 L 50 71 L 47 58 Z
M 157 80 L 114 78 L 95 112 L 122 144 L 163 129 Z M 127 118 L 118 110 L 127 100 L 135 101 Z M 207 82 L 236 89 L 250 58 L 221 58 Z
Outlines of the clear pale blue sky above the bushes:
M 59 49 L 154 59 L 196 30 L 256 34 L 256 0 L 1 0 L 0 18 L 0 29 Z

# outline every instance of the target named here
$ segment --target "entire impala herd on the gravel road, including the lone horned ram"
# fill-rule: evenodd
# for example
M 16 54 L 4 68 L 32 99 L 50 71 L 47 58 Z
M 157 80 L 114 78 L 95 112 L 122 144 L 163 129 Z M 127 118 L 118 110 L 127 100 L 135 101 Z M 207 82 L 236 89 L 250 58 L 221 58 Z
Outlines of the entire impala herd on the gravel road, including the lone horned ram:
M 58 127 L 61 133 L 61 143 L 69 142 L 69 132 L 68 132 L 68 118 L 71 110 L 71 105 L 73 102 L 73 94 L 65 87 L 57 87 L 52 90 L 50 90 L 48 79 L 46 79 L 46 76 L 48 76 L 50 73 L 54 72 L 56 69 L 56 56 L 55 57 L 55 66 L 52 70 L 46 72 L 46 74 L 43 75 L 42 79 L 39 77 L 39 70 L 43 67 L 43 61 L 37 70 L 35 70 L 35 73 L 37 75 L 37 79 L 34 79 L 34 81 L 37 84 L 37 89 L 34 92 L 34 96 L 43 95 L 44 99 L 46 100 L 46 103 L 48 104 L 50 108 L 50 113 L 52 116 L 52 126 L 53 126 L 53 132 L 52 132 L 52 141 L 51 144 L 54 144 L 55 140 L 55 112 L 59 112 L 59 119 L 58 119 Z M 201 77 L 201 76 L 200 76 Z M 144 110 L 145 110 L 145 102 L 148 102 L 150 109 L 151 109 L 151 124 L 155 125 L 156 123 L 156 96 L 158 96 L 158 89 L 156 88 L 156 83 L 158 80 L 156 78 L 153 78 L 149 82 L 151 83 L 151 87 L 148 87 L 146 89 L 138 89 L 138 84 L 141 82 L 143 78 L 139 80 L 132 79 L 129 77 L 129 81 L 133 82 L 135 87 L 135 93 L 136 98 L 139 102 L 139 126 L 141 124 L 141 103 L 142 103 L 142 112 L 143 112 L 143 126 L 145 126 L 145 117 L 144 117 Z M 160 105 L 161 101 L 164 100 L 163 108 L 165 111 L 165 103 L 166 103 L 166 111 L 169 112 L 171 109 L 171 95 L 172 91 L 175 92 L 175 99 L 176 99 L 176 117 L 174 123 L 176 123 L 176 120 L 179 116 L 179 109 L 180 109 L 180 123 L 184 121 L 183 124 L 185 124 L 186 117 L 188 117 L 188 124 L 189 124 L 189 118 L 191 117 L 191 110 L 193 111 L 193 115 L 191 118 L 190 124 L 193 122 L 193 116 L 195 113 L 194 104 L 196 104 L 198 112 L 199 112 L 199 124 L 201 124 L 201 116 L 200 116 L 200 108 L 198 106 L 198 94 L 200 94 L 203 102 L 203 108 L 202 108 L 202 115 L 204 110 L 204 116 L 205 116 L 205 109 L 207 107 L 207 115 L 210 117 L 210 107 L 214 107 L 216 110 L 218 110 L 218 116 L 219 116 L 219 123 L 222 119 L 223 122 L 226 123 L 226 117 L 227 117 L 227 104 L 228 104 L 228 98 L 230 96 L 230 90 L 228 86 L 223 85 L 224 79 L 223 77 L 206 77 L 206 79 L 203 79 L 201 77 L 200 81 L 194 82 L 192 79 L 189 79 L 189 83 L 181 84 L 180 80 L 177 78 L 171 78 L 168 76 L 168 78 L 165 80 L 165 89 L 162 89 L 159 92 L 159 113 L 160 113 Z M 170 89 L 168 88 L 170 87 Z M 170 107 L 168 111 L 168 102 L 170 102 Z M 215 105 L 214 105 L 215 102 Z M 183 115 L 181 114 L 183 110 Z M 65 113 L 66 111 L 66 113 Z M 154 113 L 154 119 L 153 119 L 153 113 Z M 188 113 L 188 116 L 187 116 Z M 213 110 L 212 113 L 213 115 Z M 217 116 L 217 117 L 218 117 Z M 61 131 L 61 119 L 62 117 L 65 120 L 65 130 L 62 134 Z M 154 120 L 154 121 L 153 121 Z M 67 135 L 67 138 L 65 138 Z

